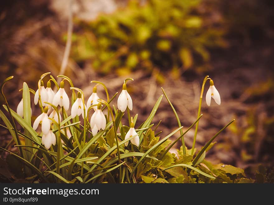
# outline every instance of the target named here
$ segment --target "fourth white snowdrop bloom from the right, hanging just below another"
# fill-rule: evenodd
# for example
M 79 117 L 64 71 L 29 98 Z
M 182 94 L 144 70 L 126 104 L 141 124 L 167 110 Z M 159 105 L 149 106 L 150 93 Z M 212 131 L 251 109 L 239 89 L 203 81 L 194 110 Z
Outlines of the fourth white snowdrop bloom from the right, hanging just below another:
M 92 135 L 94 136 L 97 132 L 102 129 L 106 129 L 106 118 L 101 110 L 101 103 L 99 102 L 97 105 L 97 110 L 92 114 L 90 119 L 90 126 Z

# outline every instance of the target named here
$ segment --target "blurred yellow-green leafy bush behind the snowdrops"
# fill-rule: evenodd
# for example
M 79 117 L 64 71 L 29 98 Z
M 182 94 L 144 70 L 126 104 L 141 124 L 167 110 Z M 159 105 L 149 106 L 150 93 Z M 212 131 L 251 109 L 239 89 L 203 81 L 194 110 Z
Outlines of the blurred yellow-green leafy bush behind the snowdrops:
M 71 56 L 78 62 L 89 59 L 102 74 L 113 69 L 118 75 L 137 68 L 175 73 L 203 69 L 210 59 L 208 48 L 226 45 L 224 28 L 210 20 L 203 2 L 148 0 L 140 5 L 132 0 L 95 21 L 76 20 L 81 32 L 73 35 Z

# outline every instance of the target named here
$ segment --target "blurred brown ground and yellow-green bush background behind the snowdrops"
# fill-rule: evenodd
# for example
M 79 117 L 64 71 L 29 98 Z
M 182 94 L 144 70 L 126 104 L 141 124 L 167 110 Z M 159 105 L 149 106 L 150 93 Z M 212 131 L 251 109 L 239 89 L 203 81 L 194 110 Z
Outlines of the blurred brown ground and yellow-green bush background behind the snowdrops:
M 62 73 L 69 40 L 64 75 L 83 89 L 85 97 L 92 93 L 91 80 L 105 83 L 112 96 L 120 92 L 125 78 L 134 78 L 128 91 L 138 126 L 163 87 L 187 129 L 196 120 L 201 83 L 209 75 L 222 103 L 208 107 L 203 100 L 197 148 L 235 118 L 206 159 L 244 168 L 252 178 L 258 164 L 273 171 L 274 1 L 10 0 L 0 4 L 0 81 L 14 76 L 4 89 L 13 110 L 21 100 L 18 90 L 24 81 L 37 90 L 41 74 Z M 70 18 L 73 29 L 68 35 Z M 101 87 L 98 95 L 105 98 Z M 35 117 L 40 110 L 32 104 L 32 111 Z M 159 120 L 162 137 L 177 127 L 165 98 L 153 122 Z M 0 146 L 5 147 L 11 137 L 5 129 L 0 132 Z M 193 135 L 191 129 L 185 136 L 188 148 Z

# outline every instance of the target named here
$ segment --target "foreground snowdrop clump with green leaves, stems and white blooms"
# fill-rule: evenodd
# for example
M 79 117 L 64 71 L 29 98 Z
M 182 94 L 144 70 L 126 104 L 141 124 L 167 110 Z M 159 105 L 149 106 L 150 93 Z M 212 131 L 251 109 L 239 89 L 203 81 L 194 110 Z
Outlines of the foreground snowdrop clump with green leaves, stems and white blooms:
M 111 107 L 110 103 L 118 92 L 110 98 L 106 85 L 99 81 L 92 81 L 92 83 L 97 83 L 98 86 L 104 87 L 107 101 L 98 98 L 95 101 L 97 104 L 88 105 L 88 107 L 82 106 L 85 104 L 83 92 L 81 89 L 74 87 L 73 82 L 67 76 L 58 76 L 63 78 L 60 88 L 54 77 L 50 76 L 50 81 L 54 82 L 59 91 L 54 94 L 52 103 L 43 102 L 41 99 L 44 99 L 46 95 L 50 96 L 49 93 L 43 92 L 45 88 L 43 87 L 44 84 L 41 83 L 42 79 L 48 74 L 50 73 L 43 74 L 38 81 L 38 89 L 36 91 L 38 95 L 35 95 L 37 97 L 35 99 L 37 99 L 42 114 L 36 118 L 33 126 L 31 126 L 30 94 L 35 94 L 35 91 L 30 89 L 24 82 L 22 89 L 23 103 L 18 105 L 17 112 L 15 112 L 9 107 L 3 93 L 4 85 L 13 76 L 8 77 L 0 86 L 1 95 L 5 99 L 6 104 L 3 105 L 4 111 L 9 115 L 7 117 L 7 114 L 0 110 L 1 120 L 4 122 L 4 125 L 0 125 L 7 129 L 12 136 L 12 140 L 8 145 L 18 148 L 16 153 L 9 150 L 9 146 L 6 146 L 6 148 L 0 147 L 0 150 L 8 153 L 5 161 L 0 159 L 0 165 L 3 168 L 3 172 L 0 174 L 1 181 L 30 183 L 254 182 L 253 179 L 246 177 L 241 168 L 224 164 L 211 164 L 205 160 L 206 152 L 215 144 L 212 141 L 234 120 L 224 126 L 196 153 L 195 137 L 193 139 L 193 147 L 189 150 L 184 144 L 184 135 L 194 125 L 196 125 L 195 133 L 197 133 L 198 122 L 202 115 L 199 112 L 197 120 L 183 132 L 176 110 L 163 89 L 163 94 L 177 119 L 178 128 L 167 136 L 160 138 L 161 131 L 156 132 L 160 122 L 157 126 L 154 126 L 152 121 L 163 95 L 156 101 L 148 118 L 137 127 L 138 114 L 131 117 L 132 104 L 130 105 L 127 102 L 131 97 L 126 90 L 126 81 L 133 79 L 125 79 L 122 86 L 123 90 L 118 98 L 118 109 L 116 109 L 116 106 Z M 206 81 L 210 79 L 208 77 L 205 76 L 201 96 L 203 95 Z M 48 90 L 51 89 L 50 81 L 47 83 Z M 68 115 L 66 112 L 69 108 L 66 108 L 65 105 L 69 105 L 69 98 L 65 97 L 64 81 L 68 81 L 73 90 L 71 115 Z M 96 86 L 93 89 L 93 96 L 97 92 Z M 75 90 L 78 90 L 77 98 Z M 60 94 L 61 92 L 62 95 Z M 56 100 L 62 102 L 62 104 L 59 104 L 61 107 L 56 104 Z M 56 118 L 54 114 L 49 117 L 47 113 L 49 107 L 44 108 L 43 103 L 50 105 L 53 110 L 52 113 L 55 112 L 58 117 Z M 125 103 L 126 107 L 128 107 L 126 112 L 126 107 L 124 110 L 120 106 L 122 104 L 125 105 Z M 97 107 L 96 110 L 94 110 L 95 106 Z M 83 107 L 83 111 L 79 113 L 81 107 Z M 75 109 L 78 110 L 77 115 L 73 115 Z M 85 112 L 85 109 L 87 109 L 87 112 Z M 105 110 L 105 114 L 102 112 L 103 110 Z M 199 111 L 201 111 L 201 100 Z M 93 112 L 93 114 L 89 123 L 90 112 Z M 127 126 L 127 123 L 122 124 L 121 120 L 125 113 L 127 113 L 130 126 Z M 79 119 L 79 115 L 82 115 L 83 119 Z M 20 127 L 15 122 L 20 124 Z M 41 123 L 41 130 L 50 135 L 47 133 L 43 134 L 41 131 L 36 132 L 37 126 L 35 122 L 37 126 L 38 123 Z M 134 132 L 130 132 L 130 130 L 134 130 Z M 178 131 L 181 133 L 180 136 L 172 142 L 169 138 Z M 179 140 L 182 140 L 180 150 L 177 150 L 177 154 L 170 153 L 169 150 Z M 49 142 L 50 144 L 48 144 Z M 260 168 L 256 177 L 263 181 L 265 178 L 269 178 L 270 175 L 266 176 L 263 168 Z

